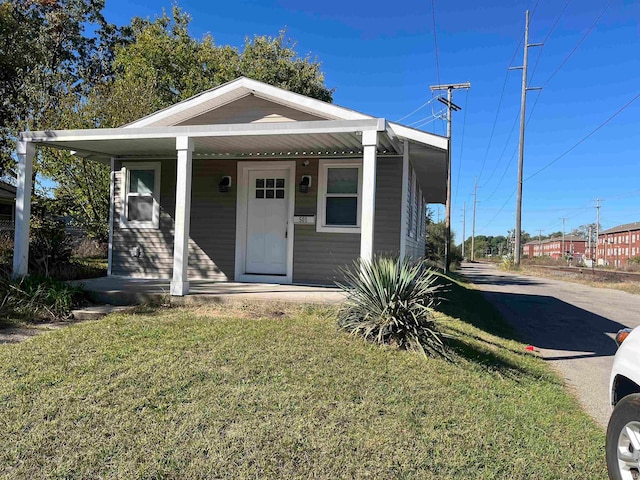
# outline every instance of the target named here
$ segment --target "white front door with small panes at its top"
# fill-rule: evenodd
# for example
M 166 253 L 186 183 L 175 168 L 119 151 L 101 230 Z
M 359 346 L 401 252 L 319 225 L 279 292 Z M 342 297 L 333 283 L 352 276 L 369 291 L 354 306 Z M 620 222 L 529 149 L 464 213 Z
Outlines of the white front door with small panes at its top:
M 250 170 L 245 273 L 287 274 L 289 170 Z

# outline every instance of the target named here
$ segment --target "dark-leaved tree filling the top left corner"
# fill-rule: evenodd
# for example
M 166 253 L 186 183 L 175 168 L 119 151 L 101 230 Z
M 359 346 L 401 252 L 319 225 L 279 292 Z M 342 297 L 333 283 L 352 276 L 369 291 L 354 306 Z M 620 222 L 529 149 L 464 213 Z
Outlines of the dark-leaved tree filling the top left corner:
M 18 132 L 55 128 L 70 98 L 81 105 L 110 76 L 127 29 L 107 23 L 103 7 L 104 0 L 0 3 L 0 173 L 12 169 Z

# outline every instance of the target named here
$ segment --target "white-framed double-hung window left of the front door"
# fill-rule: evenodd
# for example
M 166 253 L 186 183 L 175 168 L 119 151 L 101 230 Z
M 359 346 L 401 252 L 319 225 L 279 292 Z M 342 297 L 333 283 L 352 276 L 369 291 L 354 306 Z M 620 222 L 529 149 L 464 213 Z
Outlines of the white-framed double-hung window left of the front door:
M 121 192 L 122 227 L 159 227 L 160 162 L 124 163 Z

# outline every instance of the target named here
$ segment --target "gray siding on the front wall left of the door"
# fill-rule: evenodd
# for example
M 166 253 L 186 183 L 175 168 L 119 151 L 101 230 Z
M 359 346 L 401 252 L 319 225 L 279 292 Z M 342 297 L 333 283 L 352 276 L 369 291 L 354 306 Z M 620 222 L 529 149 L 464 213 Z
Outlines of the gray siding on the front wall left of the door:
M 122 228 L 121 168 L 116 162 L 114 188 L 112 274 L 170 278 L 173 273 L 176 161 L 160 160 L 160 227 Z M 236 162 L 194 160 L 189 239 L 189 278 L 232 280 L 236 231 Z M 218 192 L 223 175 L 231 175 L 234 187 Z M 141 250 L 140 257 L 131 252 Z

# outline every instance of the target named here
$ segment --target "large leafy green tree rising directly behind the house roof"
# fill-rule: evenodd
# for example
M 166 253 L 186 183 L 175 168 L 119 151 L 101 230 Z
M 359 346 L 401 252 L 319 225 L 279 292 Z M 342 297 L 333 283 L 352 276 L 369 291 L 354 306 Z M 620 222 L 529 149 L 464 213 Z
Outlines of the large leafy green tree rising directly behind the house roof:
M 93 2 L 100 12 L 98 0 L 85 1 Z M 284 31 L 275 37 L 247 37 L 242 48 L 218 46 L 211 35 L 193 38 L 190 21 L 187 13 L 174 7 L 171 15 L 163 12 L 153 20 L 134 18 L 130 29 L 117 30 L 105 23 L 101 28 L 110 34 L 108 42 L 94 43 L 110 49 L 100 59 L 108 58 L 108 66 L 98 69 L 94 64 L 99 62 L 94 61 L 88 64 L 93 70 L 83 67 L 76 72 L 81 82 L 81 72 L 93 72 L 91 81 L 82 83 L 81 94 L 58 91 L 47 128 L 117 127 L 239 76 L 332 100 L 333 91 L 324 84 L 318 60 L 299 56 Z M 40 171 L 57 182 L 55 195 L 65 199 L 69 213 L 92 235 L 105 239 L 108 168 L 74 159 L 67 152 L 48 151 Z

